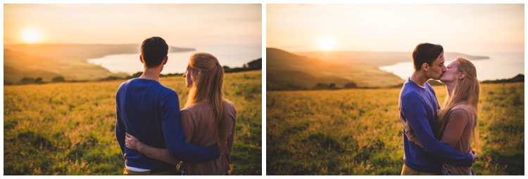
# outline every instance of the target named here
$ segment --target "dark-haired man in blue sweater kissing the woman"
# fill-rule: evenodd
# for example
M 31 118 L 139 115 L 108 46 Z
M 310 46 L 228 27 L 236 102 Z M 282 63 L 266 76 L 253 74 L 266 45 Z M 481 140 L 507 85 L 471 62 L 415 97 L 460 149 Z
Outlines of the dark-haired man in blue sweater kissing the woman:
M 446 72 L 444 48 L 435 44 L 418 44 L 413 52 L 415 72 L 403 84 L 398 102 L 400 121 L 403 123 L 403 148 L 405 150 L 401 175 L 438 175 L 442 164 L 472 166 L 477 154 L 460 153 L 450 145 L 434 138 L 440 106 L 429 79 L 440 79 Z M 408 136 L 406 134 L 409 131 Z M 409 138 L 417 138 L 417 145 Z

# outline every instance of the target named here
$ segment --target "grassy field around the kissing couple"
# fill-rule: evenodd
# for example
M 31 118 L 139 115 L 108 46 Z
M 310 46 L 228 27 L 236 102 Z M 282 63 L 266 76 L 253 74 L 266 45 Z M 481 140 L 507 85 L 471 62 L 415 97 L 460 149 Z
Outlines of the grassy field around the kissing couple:
M 475 174 L 524 175 L 524 83 L 481 88 Z M 268 91 L 266 174 L 399 175 L 400 90 Z

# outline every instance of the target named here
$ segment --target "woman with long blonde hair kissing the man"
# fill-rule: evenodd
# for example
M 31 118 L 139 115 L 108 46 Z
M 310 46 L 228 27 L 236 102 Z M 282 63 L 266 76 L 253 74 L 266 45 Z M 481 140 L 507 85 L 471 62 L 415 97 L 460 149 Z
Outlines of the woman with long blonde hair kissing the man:
M 446 84 L 448 96 L 439 112 L 439 123 L 434 129 L 435 137 L 465 154 L 472 152 L 471 139 L 478 149 L 476 128 L 480 86 L 477 69 L 470 60 L 459 57 L 447 66 L 440 81 Z M 410 141 L 422 146 L 412 130 L 406 130 L 406 135 Z M 471 167 L 444 164 L 442 175 L 474 173 Z

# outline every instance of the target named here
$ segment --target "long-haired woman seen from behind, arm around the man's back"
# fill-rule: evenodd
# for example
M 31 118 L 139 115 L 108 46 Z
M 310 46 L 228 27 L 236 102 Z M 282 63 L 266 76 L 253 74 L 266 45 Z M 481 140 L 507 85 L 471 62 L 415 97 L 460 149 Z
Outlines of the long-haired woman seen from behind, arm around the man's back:
M 182 175 L 229 175 L 231 152 L 237 112 L 232 102 L 223 98 L 224 69 L 209 53 L 191 55 L 187 71 L 183 74 L 185 86 L 191 88 L 180 120 L 187 142 L 202 147 L 218 144 L 220 157 L 205 163 L 182 162 Z M 170 157 L 168 150 L 157 149 L 139 142 L 127 134 L 127 147 L 147 157 L 171 164 L 180 163 Z

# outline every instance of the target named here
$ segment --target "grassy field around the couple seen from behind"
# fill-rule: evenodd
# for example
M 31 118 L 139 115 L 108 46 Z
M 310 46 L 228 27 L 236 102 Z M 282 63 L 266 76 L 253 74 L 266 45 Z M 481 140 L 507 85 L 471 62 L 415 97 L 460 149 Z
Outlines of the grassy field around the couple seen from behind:
M 187 101 L 184 78 L 160 81 Z M 115 140 L 122 82 L 4 86 L 4 175 L 122 175 Z M 261 86 L 262 71 L 225 76 L 225 98 L 237 109 L 232 175 L 262 173 Z

